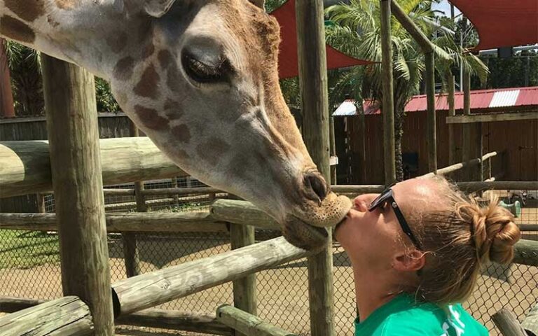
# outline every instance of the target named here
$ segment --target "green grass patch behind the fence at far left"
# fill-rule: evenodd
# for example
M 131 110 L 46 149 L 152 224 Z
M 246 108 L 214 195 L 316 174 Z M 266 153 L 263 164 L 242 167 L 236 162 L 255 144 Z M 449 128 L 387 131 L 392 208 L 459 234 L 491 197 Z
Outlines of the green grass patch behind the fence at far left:
M 57 235 L 0 230 L 0 269 L 26 269 L 55 262 L 60 262 Z

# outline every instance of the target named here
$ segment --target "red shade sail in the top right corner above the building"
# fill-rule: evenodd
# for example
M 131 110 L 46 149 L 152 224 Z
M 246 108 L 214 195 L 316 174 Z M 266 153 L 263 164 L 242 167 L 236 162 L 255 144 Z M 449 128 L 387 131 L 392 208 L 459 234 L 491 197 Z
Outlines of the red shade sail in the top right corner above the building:
M 473 22 L 475 50 L 538 43 L 538 0 L 450 0 Z

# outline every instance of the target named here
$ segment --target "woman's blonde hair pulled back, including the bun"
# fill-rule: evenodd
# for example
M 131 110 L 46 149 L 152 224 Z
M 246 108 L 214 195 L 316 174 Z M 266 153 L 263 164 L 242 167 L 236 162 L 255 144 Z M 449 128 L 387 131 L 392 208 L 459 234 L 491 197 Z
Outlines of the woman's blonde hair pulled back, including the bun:
M 446 179 L 433 180 L 439 193 L 434 202 L 439 204 L 411 216 L 426 256 L 416 294 L 428 302 L 462 302 L 471 295 L 483 265 L 511 262 L 520 231 L 497 197 L 482 204 Z

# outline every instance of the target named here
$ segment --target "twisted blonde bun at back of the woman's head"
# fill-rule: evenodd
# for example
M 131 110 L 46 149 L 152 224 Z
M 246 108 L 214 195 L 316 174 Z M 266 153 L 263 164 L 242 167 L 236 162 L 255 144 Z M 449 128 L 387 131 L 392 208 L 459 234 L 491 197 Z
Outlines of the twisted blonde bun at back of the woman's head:
M 513 245 L 520 239 L 520 230 L 510 211 L 499 207 L 497 197 L 485 207 L 468 204 L 472 218 L 478 260 L 508 264 L 513 259 Z

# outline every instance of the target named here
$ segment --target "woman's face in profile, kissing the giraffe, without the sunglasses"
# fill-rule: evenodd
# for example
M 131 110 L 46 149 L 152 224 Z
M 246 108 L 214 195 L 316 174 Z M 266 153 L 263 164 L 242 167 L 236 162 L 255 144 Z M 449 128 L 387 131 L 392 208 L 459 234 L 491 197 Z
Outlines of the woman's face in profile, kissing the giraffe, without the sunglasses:
M 426 206 L 430 202 L 431 183 L 425 180 L 407 180 L 392 187 L 394 200 L 413 230 L 410 221 L 412 211 Z M 354 207 L 347 214 L 345 221 L 338 225 L 336 239 L 342 244 L 350 258 L 359 267 L 368 269 L 385 269 L 391 267 L 392 259 L 405 251 L 402 239 L 403 231 L 392 210 L 385 205 L 374 211 L 368 211 L 368 205 L 379 194 L 365 194 L 356 197 Z

